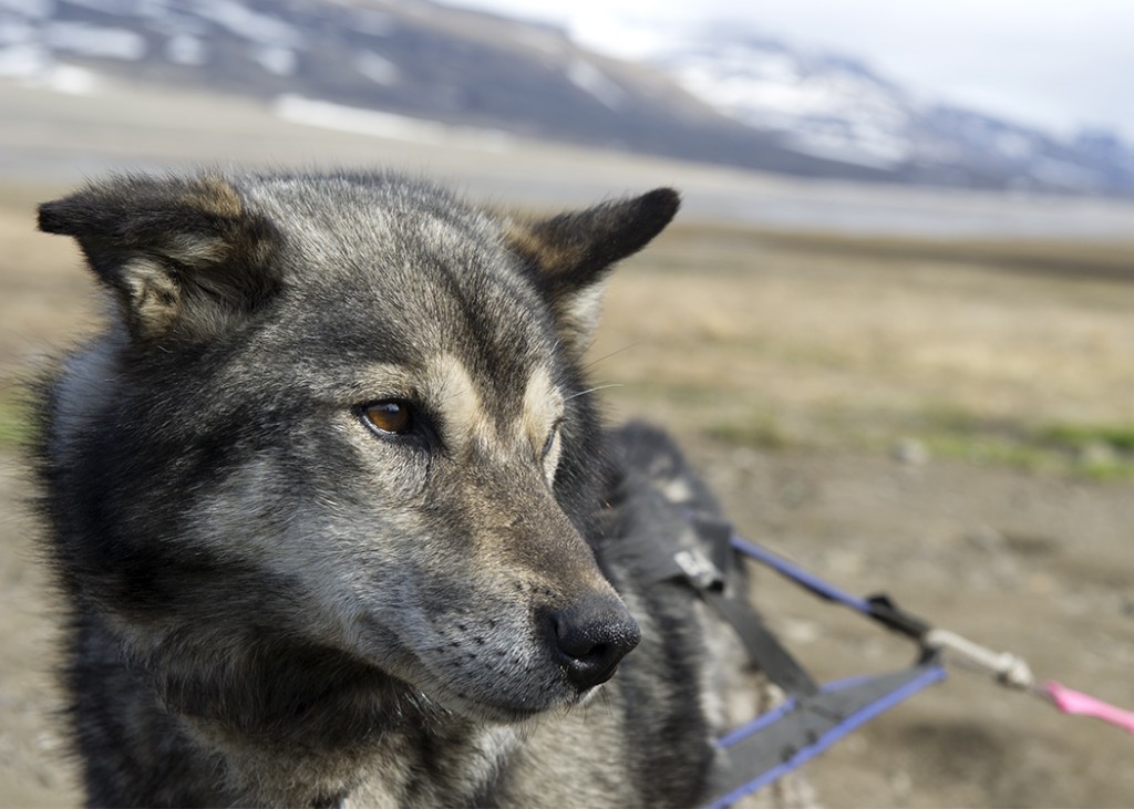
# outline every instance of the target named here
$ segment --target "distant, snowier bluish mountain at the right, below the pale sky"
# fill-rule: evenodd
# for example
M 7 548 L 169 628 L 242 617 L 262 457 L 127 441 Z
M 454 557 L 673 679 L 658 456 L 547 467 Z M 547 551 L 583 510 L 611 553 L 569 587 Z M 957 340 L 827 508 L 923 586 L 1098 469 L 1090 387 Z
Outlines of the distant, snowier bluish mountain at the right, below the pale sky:
M 856 59 L 735 27 L 666 37 L 648 61 L 781 144 L 934 184 L 1129 193 L 1134 151 L 1107 134 L 1060 139 L 916 97 Z

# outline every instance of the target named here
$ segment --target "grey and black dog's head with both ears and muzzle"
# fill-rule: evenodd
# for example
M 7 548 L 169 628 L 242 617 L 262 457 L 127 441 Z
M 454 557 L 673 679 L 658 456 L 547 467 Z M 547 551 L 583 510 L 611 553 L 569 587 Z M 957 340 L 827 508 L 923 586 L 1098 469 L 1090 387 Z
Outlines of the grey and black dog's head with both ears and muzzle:
M 578 360 L 607 271 L 676 210 L 660 189 L 517 223 L 348 174 L 44 204 L 118 303 L 58 385 L 82 488 L 52 496 L 101 534 L 65 538 L 65 569 L 139 658 L 264 636 L 469 715 L 577 702 L 638 640 L 584 538 Z

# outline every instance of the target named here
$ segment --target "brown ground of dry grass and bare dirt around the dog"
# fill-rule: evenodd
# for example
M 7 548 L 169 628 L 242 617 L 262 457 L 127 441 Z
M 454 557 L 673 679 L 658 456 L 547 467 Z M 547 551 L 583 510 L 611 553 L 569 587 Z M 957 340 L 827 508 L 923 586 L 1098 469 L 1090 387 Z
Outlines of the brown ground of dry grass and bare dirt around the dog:
M 32 232 L 28 202 L 50 193 L 0 204 L 0 804 L 11 807 L 79 801 L 53 721 L 52 599 L 16 452 L 17 377 L 99 310 L 71 247 Z M 1129 255 L 686 225 L 612 283 L 593 373 L 621 385 L 606 391 L 612 418 L 678 435 L 746 536 L 1134 707 Z M 771 573 L 759 587 L 822 679 L 912 657 Z M 1132 756 L 1122 731 L 954 667 L 807 772 L 830 807 L 1123 807 Z

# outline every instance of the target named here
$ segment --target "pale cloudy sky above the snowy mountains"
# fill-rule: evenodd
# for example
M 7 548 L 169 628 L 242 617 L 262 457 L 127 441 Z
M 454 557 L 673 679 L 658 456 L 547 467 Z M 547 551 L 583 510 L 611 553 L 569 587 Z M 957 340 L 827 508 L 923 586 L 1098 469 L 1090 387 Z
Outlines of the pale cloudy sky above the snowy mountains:
M 742 22 L 864 60 L 925 97 L 1134 144 L 1134 0 L 442 0 L 566 27 L 634 56 L 643 20 Z

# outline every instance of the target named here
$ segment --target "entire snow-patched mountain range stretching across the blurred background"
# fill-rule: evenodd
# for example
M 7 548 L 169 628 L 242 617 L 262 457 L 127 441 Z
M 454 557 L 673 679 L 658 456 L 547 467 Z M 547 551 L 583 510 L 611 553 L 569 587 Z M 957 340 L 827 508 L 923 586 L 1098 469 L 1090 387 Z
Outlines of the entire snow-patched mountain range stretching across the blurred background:
M 1134 153 L 1106 134 L 933 104 L 735 27 L 627 60 L 430 0 L 0 0 L 0 79 L 108 76 L 812 177 L 1134 194 Z

